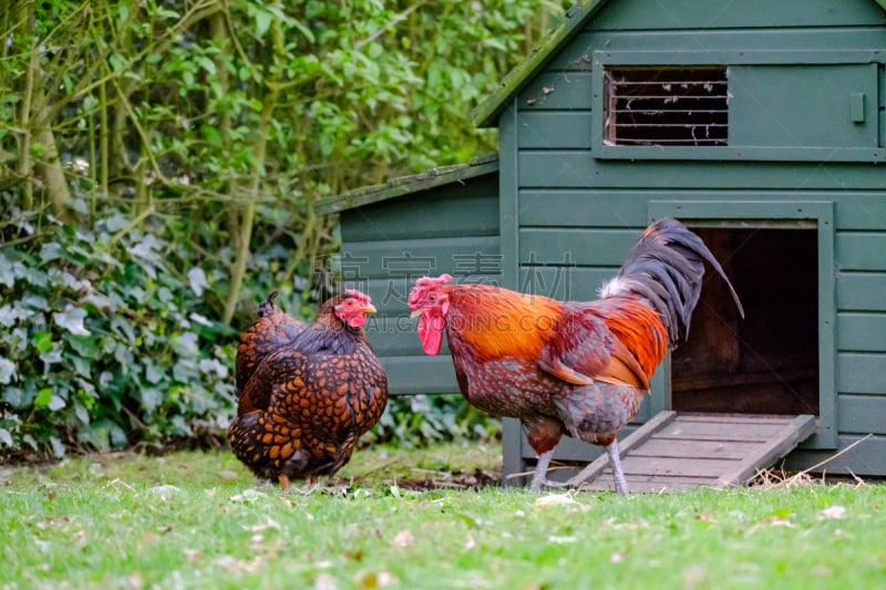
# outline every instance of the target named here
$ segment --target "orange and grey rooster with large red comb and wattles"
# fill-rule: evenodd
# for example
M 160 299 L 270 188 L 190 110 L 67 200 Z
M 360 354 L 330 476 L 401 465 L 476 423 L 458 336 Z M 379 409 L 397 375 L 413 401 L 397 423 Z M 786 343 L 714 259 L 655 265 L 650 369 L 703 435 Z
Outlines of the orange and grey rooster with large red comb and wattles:
M 409 296 L 426 354 L 449 338 L 459 387 L 496 416 L 519 418 L 538 455 L 530 489 L 546 479 L 566 434 L 602 446 L 617 490 L 628 494 L 616 437 L 640 408 L 668 350 L 686 338 L 704 260 L 739 297 L 697 235 L 676 219 L 652 224 L 596 301 L 559 302 L 488 284 L 419 279 Z

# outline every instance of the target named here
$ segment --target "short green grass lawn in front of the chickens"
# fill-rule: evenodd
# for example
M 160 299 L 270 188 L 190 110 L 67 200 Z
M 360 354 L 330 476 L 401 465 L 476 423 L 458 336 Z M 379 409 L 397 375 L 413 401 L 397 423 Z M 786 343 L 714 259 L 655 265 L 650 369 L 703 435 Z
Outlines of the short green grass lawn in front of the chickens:
M 0 588 L 807 590 L 886 580 L 886 485 L 628 498 L 466 487 L 498 468 L 499 453 L 362 451 L 332 487 L 310 493 L 256 487 L 227 453 L 0 467 Z

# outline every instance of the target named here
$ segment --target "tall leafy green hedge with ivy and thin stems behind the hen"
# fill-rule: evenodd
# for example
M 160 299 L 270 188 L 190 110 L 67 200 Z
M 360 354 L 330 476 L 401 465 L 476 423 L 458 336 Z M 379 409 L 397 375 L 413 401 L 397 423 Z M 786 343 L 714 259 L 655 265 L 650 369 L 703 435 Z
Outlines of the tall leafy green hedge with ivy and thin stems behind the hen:
M 0 453 L 218 436 L 256 303 L 334 289 L 313 203 L 494 151 L 465 115 L 559 4 L 9 3 Z M 380 439 L 474 431 L 457 401 L 392 408 Z

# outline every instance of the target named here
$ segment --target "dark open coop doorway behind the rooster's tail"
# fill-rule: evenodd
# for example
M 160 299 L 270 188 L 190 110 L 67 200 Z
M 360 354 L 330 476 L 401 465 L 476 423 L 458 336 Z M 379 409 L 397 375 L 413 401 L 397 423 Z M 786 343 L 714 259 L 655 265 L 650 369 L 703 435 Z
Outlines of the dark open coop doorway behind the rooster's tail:
M 696 227 L 741 298 L 708 272 L 689 340 L 671 356 L 680 412 L 820 415 L 815 227 Z

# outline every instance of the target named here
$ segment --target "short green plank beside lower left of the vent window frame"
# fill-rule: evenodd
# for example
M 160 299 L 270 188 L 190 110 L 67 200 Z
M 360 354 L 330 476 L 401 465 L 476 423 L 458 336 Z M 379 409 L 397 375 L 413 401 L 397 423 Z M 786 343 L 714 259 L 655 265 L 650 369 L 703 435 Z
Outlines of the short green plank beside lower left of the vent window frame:
M 517 125 L 521 148 L 590 149 L 590 111 L 522 112 Z

